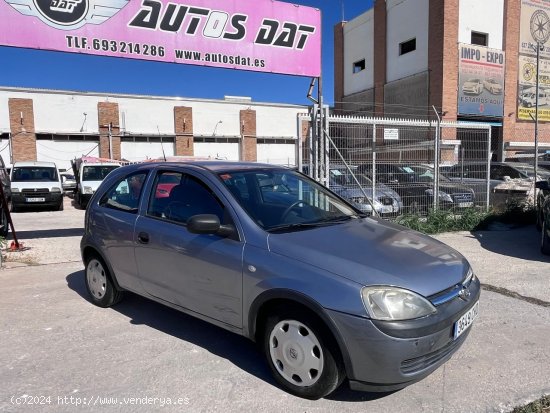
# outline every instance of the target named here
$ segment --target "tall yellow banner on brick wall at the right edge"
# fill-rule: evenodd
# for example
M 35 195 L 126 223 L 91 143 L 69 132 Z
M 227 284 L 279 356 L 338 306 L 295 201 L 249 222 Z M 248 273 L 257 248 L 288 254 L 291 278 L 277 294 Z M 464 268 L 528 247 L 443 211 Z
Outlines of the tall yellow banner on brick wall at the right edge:
M 517 118 L 535 117 L 537 44 L 539 51 L 539 120 L 550 121 L 550 0 L 522 0 L 519 33 Z M 533 118 L 531 118 L 533 116 Z

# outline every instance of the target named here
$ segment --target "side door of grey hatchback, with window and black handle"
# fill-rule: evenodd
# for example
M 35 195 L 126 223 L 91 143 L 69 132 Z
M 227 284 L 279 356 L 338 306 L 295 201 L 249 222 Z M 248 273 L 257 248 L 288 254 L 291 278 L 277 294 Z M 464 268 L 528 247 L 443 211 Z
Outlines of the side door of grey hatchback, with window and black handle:
M 167 187 L 167 181 L 176 184 Z M 150 194 L 135 227 L 143 288 L 154 297 L 241 328 L 244 242 L 239 236 L 192 234 L 186 228 L 196 214 L 214 214 L 221 223 L 234 225 L 230 208 L 202 177 L 178 169 L 157 171 Z

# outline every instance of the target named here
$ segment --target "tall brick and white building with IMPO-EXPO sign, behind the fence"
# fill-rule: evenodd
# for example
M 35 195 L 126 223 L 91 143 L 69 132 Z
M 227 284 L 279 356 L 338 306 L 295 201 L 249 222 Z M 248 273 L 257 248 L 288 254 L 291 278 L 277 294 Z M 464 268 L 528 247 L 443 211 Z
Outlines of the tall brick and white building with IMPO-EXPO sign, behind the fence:
M 334 27 L 335 110 L 435 119 L 435 108 L 444 120 L 491 124 L 494 159 L 533 150 L 534 45 L 548 40 L 548 16 L 548 1 L 375 0 Z M 546 150 L 550 52 L 539 62 L 539 140 Z

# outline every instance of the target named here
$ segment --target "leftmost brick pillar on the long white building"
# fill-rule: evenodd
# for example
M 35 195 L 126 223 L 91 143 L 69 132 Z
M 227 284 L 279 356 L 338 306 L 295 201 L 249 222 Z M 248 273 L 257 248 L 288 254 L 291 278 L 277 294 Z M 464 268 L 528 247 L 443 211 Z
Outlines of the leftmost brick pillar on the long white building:
M 8 99 L 13 162 L 36 161 L 36 134 L 32 99 Z M 9 162 L 4 159 L 4 162 Z

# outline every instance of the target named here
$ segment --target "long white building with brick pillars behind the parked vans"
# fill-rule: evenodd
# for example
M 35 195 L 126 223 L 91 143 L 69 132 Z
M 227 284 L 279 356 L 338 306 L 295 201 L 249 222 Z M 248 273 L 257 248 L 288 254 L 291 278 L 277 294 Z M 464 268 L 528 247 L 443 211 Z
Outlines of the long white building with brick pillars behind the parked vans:
M 6 164 L 196 156 L 296 165 L 306 106 L 0 87 Z

